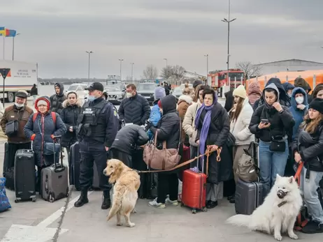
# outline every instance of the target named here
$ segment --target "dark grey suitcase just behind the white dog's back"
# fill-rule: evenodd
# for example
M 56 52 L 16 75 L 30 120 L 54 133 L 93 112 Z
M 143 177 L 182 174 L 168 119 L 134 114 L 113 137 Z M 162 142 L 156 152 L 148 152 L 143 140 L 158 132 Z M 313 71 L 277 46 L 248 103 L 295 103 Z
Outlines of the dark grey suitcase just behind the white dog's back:
M 238 178 L 236 184 L 236 213 L 250 215 L 264 202 L 263 184 L 245 182 Z

